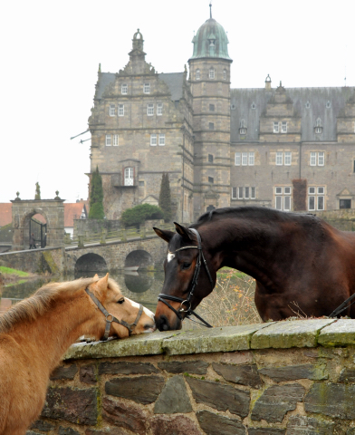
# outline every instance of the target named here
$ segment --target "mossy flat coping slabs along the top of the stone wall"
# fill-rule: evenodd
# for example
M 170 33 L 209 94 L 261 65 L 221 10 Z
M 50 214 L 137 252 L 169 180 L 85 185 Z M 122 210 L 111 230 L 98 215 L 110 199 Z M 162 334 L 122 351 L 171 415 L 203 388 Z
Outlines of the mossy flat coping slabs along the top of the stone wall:
M 75 343 L 65 353 L 64 360 L 354 344 L 355 320 L 286 320 L 206 330 L 157 332 L 108 342 Z

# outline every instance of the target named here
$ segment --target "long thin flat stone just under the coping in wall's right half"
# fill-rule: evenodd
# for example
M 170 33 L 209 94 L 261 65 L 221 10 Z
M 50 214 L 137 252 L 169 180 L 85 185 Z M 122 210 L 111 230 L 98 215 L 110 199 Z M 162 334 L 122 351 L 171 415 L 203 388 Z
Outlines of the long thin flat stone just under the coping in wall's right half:
M 322 379 L 328 379 L 328 375 L 324 371 L 325 364 L 320 366 L 303 364 L 285 367 L 264 367 L 264 369 L 259 370 L 259 373 L 269 376 L 275 382 L 295 381 L 296 379 L 321 381 Z

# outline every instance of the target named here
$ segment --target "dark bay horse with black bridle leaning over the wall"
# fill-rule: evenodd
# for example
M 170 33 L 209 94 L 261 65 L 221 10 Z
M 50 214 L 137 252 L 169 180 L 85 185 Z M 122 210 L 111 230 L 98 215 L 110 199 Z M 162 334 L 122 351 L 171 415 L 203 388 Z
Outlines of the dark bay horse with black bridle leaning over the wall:
M 177 234 L 154 228 L 168 242 L 156 311 L 160 331 L 181 328 L 182 319 L 212 292 L 216 271 L 223 266 L 254 277 L 255 304 L 264 321 L 298 310 L 307 316 L 329 315 L 355 293 L 355 233 L 339 231 L 313 215 L 219 208 L 189 228 L 175 227 Z M 355 318 L 355 305 L 343 315 Z

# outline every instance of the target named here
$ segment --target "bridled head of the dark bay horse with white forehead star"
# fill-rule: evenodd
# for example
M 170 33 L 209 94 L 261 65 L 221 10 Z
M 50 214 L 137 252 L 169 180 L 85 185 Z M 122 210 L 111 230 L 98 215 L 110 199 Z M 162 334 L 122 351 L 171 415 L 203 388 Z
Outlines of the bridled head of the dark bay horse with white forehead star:
M 194 310 L 216 283 L 215 270 L 204 263 L 204 254 L 198 248 L 201 241 L 196 230 L 183 227 L 176 222 L 177 234 L 153 228 L 158 237 L 168 242 L 168 257 L 164 261 L 165 279 L 158 298 L 155 315 L 159 331 L 181 329 L 181 321 L 189 309 Z M 206 255 L 206 259 L 210 260 Z M 208 263 L 208 261 L 207 261 Z M 210 261 L 209 261 L 210 264 Z

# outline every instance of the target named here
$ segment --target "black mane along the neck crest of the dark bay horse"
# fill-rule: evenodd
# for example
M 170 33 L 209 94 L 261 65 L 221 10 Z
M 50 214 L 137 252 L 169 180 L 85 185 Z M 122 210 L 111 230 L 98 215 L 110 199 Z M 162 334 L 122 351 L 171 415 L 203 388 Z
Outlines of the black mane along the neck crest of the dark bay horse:
M 210 222 L 215 218 L 259 218 L 268 220 L 294 220 L 309 218 L 310 220 L 314 220 L 315 217 L 310 214 L 283 212 L 273 208 L 265 207 L 226 207 L 207 211 L 197 219 L 197 222 L 194 224 L 194 226 Z

